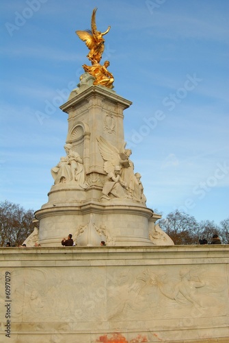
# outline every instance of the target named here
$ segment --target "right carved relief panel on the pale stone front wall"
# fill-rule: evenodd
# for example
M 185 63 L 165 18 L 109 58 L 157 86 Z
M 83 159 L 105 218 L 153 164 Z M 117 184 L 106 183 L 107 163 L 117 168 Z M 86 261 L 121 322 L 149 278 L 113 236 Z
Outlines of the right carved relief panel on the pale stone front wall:
M 175 279 L 174 279 L 175 276 Z M 189 268 L 167 268 L 152 272 L 151 268 L 135 275 L 130 270 L 109 276 L 109 320 L 141 320 L 150 318 L 196 318 L 226 315 L 225 278 L 214 272 L 195 272 Z

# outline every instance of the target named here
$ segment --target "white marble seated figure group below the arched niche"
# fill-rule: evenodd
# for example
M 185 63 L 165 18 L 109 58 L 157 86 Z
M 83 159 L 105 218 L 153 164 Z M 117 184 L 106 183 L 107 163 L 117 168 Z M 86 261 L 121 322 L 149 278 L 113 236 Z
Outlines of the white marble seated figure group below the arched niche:
M 66 156 L 61 157 L 59 163 L 51 169 L 51 174 L 55 180 L 54 184 L 75 182 L 81 188 L 87 188 L 85 182 L 85 170 L 81 156 L 72 150 L 72 144 L 64 145 Z

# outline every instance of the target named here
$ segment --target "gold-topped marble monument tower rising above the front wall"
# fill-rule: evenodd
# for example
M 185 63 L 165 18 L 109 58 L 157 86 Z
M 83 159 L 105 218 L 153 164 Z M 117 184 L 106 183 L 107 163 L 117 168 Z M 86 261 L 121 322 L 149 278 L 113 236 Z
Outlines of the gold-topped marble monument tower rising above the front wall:
M 54 185 L 49 201 L 36 211 L 39 243 L 59 246 L 72 233 L 77 246 L 173 245 L 155 222 L 161 217 L 146 206 L 141 174 L 135 171 L 131 150 L 124 141 L 123 111 L 129 100 L 113 90 L 109 61 L 100 64 L 104 35 L 96 28 L 77 31 L 90 49 L 85 73 L 60 108 L 68 114 L 64 150 L 51 169 Z

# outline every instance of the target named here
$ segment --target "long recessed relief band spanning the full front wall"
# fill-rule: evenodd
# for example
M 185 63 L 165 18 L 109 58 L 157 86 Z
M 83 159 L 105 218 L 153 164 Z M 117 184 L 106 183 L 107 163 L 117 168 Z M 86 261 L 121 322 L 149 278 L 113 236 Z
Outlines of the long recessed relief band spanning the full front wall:
M 105 227 L 98 231 L 102 235 L 106 233 Z M 229 314 L 228 303 L 225 303 L 226 274 L 220 265 L 212 268 L 135 265 L 134 268 L 108 269 L 88 265 L 87 268 L 65 266 L 59 270 L 15 268 L 10 272 L 12 320 L 16 322 L 150 318 L 190 321 Z M 1 272 L 1 276 L 3 274 Z

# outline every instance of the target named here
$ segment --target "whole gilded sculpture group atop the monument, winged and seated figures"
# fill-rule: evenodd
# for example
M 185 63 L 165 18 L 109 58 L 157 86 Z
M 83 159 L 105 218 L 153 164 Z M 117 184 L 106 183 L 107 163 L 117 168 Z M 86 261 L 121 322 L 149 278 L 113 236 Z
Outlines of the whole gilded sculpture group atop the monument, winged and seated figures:
M 103 65 L 100 64 L 105 43 L 103 36 L 105 36 L 105 34 L 109 32 L 109 29 L 111 27 L 109 26 L 107 28 L 107 31 L 105 31 L 104 33 L 97 31 L 96 10 L 97 8 L 94 8 L 92 12 L 92 30 L 87 29 L 85 31 L 76 31 L 76 34 L 79 36 L 79 38 L 83 40 L 83 42 L 85 42 L 85 44 L 87 45 L 88 49 L 90 49 L 87 58 L 91 61 L 92 66 L 87 66 L 87 64 L 83 64 L 83 69 L 87 73 L 90 73 L 90 75 L 92 75 L 96 79 L 93 83 L 94 85 L 113 88 L 113 75 L 107 70 L 107 67 L 109 67 L 109 61 L 105 61 Z

